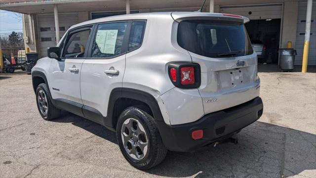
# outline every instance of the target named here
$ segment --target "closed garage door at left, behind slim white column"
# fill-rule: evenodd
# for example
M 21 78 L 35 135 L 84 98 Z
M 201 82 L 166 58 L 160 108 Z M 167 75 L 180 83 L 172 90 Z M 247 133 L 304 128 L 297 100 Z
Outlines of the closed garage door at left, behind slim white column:
M 62 37 L 72 25 L 78 23 L 78 13 L 59 14 L 58 18 L 60 37 Z M 45 57 L 47 56 L 47 47 L 56 46 L 54 14 L 38 15 L 38 32 L 40 57 Z

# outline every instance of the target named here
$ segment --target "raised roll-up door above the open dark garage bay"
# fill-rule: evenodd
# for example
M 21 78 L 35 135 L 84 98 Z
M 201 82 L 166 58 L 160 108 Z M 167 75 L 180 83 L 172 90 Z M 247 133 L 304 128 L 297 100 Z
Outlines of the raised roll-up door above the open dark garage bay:
M 242 15 L 250 20 L 279 19 L 282 14 L 282 4 L 221 6 L 220 12 Z

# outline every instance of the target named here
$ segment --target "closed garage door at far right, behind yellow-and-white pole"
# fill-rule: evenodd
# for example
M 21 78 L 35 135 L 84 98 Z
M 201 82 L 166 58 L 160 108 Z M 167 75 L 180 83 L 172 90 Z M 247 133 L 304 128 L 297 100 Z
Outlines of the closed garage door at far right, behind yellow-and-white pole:
M 305 40 L 305 25 L 306 25 L 306 6 L 307 3 L 301 2 L 298 4 L 297 14 L 297 29 L 295 48 L 297 56 L 295 57 L 295 65 L 302 65 L 303 49 Z M 312 23 L 310 36 L 310 50 L 308 54 L 308 65 L 316 65 L 316 2 L 313 2 L 312 7 Z

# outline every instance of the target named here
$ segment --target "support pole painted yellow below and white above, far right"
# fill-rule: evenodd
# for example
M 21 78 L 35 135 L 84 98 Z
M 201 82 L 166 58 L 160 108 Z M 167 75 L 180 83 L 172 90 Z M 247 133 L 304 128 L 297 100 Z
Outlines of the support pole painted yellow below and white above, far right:
M 302 64 L 303 73 L 307 72 L 308 52 L 309 52 L 310 33 L 311 33 L 312 6 L 313 6 L 313 0 L 307 0 L 305 40 L 304 40 L 303 64 Z

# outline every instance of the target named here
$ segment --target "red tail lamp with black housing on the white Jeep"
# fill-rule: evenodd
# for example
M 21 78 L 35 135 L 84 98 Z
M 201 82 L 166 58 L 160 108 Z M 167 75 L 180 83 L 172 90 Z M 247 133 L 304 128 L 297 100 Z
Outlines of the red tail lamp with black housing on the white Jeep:
M 177 88 L 193 89 L 201 84 L 200 66 L 196 63 L 172 63 L 168 67 L 171 82 Z

